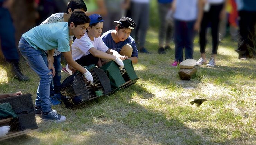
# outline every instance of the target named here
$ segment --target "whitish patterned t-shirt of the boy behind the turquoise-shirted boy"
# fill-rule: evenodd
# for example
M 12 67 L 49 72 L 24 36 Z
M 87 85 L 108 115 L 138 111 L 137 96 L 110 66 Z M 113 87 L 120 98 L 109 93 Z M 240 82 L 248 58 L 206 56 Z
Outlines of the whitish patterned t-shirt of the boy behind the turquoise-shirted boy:
M 57 23 L 57 22 L 64 22 L 64 12 L 61 12 L 61 13 L 55 13 L 55 14 L 52 14 L 50 17 L 48 17 L 47 19 L 45 19 L 40 25 L 44 25 L 44 24 L 52 24 L 52 23 Z M 69 36 L 69 40 L 73 40 L 73 35 Z M 45 51 L 47 53 L 47 51 Z M 56 55 L 59 55 L 61 54 L 60 51 L 58 51 L 58 48 L 55 49 L 54 51 L 54 55 L 53 56 L 56 56 Z

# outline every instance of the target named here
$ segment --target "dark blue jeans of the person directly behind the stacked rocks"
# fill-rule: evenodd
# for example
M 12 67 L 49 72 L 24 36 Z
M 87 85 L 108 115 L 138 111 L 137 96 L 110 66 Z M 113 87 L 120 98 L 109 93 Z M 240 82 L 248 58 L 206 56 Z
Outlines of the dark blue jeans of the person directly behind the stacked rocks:
M 193 58 L 194 52 L 194 24 L 195 21 L 174 21 L 175 61 L 183 61 L 183 49 L 186 59 Z

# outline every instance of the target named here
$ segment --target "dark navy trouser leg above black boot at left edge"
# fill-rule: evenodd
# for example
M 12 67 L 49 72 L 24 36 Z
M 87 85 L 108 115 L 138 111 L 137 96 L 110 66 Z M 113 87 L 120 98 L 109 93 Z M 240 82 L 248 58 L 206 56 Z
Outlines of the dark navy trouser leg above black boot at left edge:
M 8 9 L 0 7 L 0 41 L 3 55 L 7 62 L 19 62 L 15 46 L 15 29 Z

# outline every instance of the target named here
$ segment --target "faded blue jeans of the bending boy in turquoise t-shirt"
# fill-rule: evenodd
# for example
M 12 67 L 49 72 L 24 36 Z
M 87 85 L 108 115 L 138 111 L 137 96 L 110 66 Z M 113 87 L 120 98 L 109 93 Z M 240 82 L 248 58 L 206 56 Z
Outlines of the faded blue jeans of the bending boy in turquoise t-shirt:
M 43 50 L 33 48 L 22 37 L 19 41 L 19 51 L 28 62 L 31 69 L 33 69 L 40 77 L 35 106 L 41 106 L 43 112 L 50 112 L 50 85 L 53 75 L 52 71 L 48 68 L 45 52 Z

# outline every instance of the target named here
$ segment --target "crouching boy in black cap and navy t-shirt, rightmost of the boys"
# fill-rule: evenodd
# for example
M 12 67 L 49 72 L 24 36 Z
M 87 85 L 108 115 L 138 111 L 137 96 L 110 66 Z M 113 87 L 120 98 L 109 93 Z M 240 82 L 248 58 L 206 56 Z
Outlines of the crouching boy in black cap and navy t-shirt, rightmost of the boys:
M 101 36 L 108 48 L 116 50 L 120 55 L 128 56 L 133 64 L 138 63 L 138 50 L 134 39 L 130 36 L 135 28 L 135 22 L 129 17 L 122 17 L 115 30 L 109 30 Z

